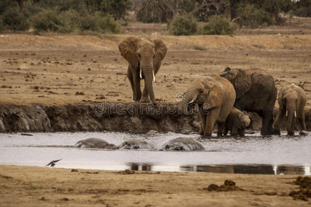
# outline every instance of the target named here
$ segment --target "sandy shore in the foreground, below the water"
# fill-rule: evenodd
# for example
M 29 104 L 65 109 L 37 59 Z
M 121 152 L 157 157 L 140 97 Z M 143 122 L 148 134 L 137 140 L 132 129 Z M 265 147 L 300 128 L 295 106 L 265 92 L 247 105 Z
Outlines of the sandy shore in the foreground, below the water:
M 293 175 L 73 170 L 0 166 L 0 206 L 310 206 Z M 226 179 L 242 190 L 208 191 Z

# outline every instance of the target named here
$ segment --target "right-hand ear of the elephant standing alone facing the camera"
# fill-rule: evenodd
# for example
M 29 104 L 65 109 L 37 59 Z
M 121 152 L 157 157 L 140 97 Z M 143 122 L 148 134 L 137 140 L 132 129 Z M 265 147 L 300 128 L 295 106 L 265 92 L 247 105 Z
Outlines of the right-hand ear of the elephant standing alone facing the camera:
M 158 72 L 161 66 L 161 61 L 167 55 L 167 46 L 162 39 L 153 39 L 151 42 L 154 43 L 154 59 L 153 59 L 153 70 L 155 73 Z

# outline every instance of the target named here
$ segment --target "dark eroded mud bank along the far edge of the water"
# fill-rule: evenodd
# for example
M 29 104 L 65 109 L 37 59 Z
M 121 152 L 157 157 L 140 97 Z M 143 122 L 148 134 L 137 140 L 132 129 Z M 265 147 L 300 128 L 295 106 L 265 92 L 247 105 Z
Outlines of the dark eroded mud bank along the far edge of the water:
M 305 124 L 311 129 L 311 110 L 305 110 Z M 249 113 L 260 130 L 261 118 Z M 276 112 L 274 112 L 274 116 Z M 285 120 L 283 120 L 285 126 Z M 68 105 L 17 106 L 0 105 L 0 132 L 92 132 L 113 131 L 130 133 L 198 132 L 200 123 L 196 109 L 185 115 L 173 103 L 156 108 L 141 103 L 77 103 Z M 285 128 L 283 128 L 284 130 Z

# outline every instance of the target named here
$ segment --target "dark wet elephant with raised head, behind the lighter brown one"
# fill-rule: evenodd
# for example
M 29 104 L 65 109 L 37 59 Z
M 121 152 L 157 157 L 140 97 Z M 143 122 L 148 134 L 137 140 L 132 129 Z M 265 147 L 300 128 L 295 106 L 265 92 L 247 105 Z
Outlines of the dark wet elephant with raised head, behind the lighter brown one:
M 273 135 L 273 109 L 277 89 L 274 78 L 259 68 L 225 68 L 221 77 L 228 79 L 236 90 L 234 107 L 257 112 L 262 118 L 261 135 Z

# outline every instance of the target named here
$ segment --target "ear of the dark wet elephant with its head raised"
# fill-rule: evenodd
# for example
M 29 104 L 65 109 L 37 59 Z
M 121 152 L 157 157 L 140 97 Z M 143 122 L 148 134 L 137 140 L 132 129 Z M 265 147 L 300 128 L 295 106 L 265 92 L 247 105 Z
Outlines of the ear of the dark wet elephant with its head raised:
M 245 93 L 252 88 L 252 80 L 250 75 L 247 75 L 245 70 L 238 70 L 236 78 L 232 81 L 234 89 L 236 90 L 236 99 L 239 99 L 245 95 Z

